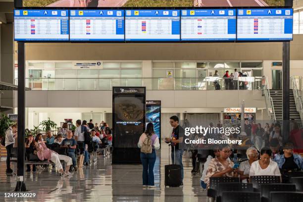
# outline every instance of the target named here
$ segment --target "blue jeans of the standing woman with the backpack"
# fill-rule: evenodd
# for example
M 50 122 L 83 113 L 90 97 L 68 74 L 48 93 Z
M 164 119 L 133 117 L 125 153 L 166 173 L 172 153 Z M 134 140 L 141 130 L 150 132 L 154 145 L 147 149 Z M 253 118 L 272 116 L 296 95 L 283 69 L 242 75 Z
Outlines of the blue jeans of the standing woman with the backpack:
M 143 165 L 143 185 L 154 186 L 154 178 L 153 178 L 153 166 L 156 159 L 155 151 L 152 150 L 152 153 L 142 153 L 141 152 L 141 162 Z

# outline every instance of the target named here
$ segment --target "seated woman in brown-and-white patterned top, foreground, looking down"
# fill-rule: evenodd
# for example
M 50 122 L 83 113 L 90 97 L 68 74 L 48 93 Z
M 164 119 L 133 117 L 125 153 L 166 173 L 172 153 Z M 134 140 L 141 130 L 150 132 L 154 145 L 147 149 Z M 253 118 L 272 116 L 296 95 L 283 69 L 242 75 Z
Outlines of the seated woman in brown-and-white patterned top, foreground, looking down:
M 231 154 L 229 145 L 220 145 L 220 156 L 210 160 L 204 183 L 209 189 L 210 177 L 238 177 L 237 169 L 233 169 L 234 162 L 229 159 Z

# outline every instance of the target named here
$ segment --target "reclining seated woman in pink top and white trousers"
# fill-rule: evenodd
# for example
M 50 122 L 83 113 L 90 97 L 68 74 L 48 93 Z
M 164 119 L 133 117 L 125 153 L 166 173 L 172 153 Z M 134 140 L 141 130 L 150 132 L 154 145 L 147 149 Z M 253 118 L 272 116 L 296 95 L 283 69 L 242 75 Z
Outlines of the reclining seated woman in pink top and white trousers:
M 47 159 L 48 161 L 51 160 L 52 162 L 55 163 L 61 176 L 67 177 L 68 175 L 70 175 L 69 167 L 70 167 L 70 165 L 73 164 L 71 157 L 66 156 L 66 155 L 60 155 L 60 154 L 50 150 L 49 148 L 47 148 L 47 146 L 45 145 L 45 143 L 42 139 L 41 133 L 38 133 L 36 136 L 35 146 L 36 146 L 36 150 L 37 150 L 37 155 L 40 160 L 44 160 L 44 159 Z M 63 170 L 60 160 L 64 160 L 66 162 L 65 172 Z

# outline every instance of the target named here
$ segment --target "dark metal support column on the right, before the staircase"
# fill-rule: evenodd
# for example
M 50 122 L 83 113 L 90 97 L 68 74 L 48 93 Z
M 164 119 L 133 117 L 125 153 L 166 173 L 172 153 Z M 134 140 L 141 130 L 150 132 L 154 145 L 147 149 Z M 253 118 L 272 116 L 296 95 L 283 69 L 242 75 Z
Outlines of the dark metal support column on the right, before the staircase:
M 282 69 L 282 95 L 283 95 L 283 139 L 289 136 L 290 128 L 290 42 L 283 42 L 283 69 Z

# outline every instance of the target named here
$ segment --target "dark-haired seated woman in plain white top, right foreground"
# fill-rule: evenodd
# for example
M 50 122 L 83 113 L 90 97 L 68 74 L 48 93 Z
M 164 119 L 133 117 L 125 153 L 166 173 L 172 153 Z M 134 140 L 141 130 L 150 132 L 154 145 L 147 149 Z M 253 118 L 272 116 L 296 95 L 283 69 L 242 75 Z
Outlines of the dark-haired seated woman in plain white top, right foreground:
M 263 148 L 260 152 L 260 160 L 254 161 L 250 169 L 250 177 L 258 175 L 275 175 L 280 176 L 281 173 L 278 164 L 271 160 L 271 150 Z

